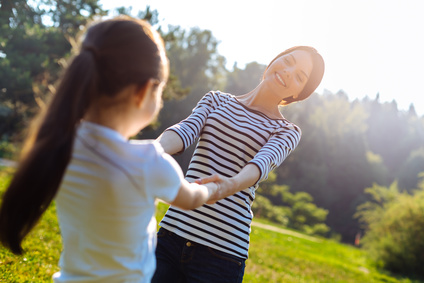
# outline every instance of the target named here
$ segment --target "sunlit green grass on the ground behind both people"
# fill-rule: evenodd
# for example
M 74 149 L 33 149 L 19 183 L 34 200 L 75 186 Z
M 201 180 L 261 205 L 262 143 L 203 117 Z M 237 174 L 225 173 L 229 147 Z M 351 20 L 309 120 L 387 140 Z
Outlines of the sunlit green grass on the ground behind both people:
M 0 168 L 0 192 L 9 181 L 9 173 Z M 159 203 L 158 220 L 166 209 L 166 204 Z M 23 247 L 26 250 L 23 256 L 15 256 L 0 247 L 0 282 L 51 281 L 53 273 L 59 270 L 61 250 L 54 204 L 25 239 Z M 322 238 L 311 241 L 255 226 L 244 282 L 422 283 L 377 270 L 366 254 L 355 247 Z

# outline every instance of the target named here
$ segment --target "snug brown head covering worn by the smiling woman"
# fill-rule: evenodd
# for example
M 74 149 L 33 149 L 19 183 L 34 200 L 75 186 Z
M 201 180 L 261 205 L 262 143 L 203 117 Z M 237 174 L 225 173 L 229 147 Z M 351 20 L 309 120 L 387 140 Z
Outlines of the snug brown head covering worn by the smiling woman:
M 290 103 L 301 101 L 308 98 L 315 91 L 318 85 L 321 83 L 322 77 L 324 76 L 324 68 L 325 68 L 324 59 L 322 59 L 322 56 L 318 53 L 318 51 L 315 48 L 310 46 L 295 46 L 281 52 L 274 59 L 272 59 L 272 61 L 268 64 L 268 66 L 265 69 L 264 76 L 269 66 L 271 66 L 271 64 L 274 63 L 275 60 L 295 50 L 304 50 L 311 55 L 312 65 L 313 65 L 312 71 L 305 87 L 300 92 L 299 96 L 297 98 L 288 97 L 284 99 L 280 103 L 280 105 L 288 105 Z

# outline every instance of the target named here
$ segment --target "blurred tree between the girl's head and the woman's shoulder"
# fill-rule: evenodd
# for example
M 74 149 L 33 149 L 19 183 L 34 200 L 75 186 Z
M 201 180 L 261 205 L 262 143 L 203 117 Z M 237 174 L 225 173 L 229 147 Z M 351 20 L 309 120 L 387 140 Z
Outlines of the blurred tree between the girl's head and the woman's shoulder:
M 142 138 L 156 138 L 167 127 L 186 118 L 206 92 L 221 88 L 225 82 L 225 58 L 218 54 L 218 41 L 211 31 L 169 26 L 164 38 L 171 74 L 177 79 L 174 82 L 187 95 L 165 101 L 158 126 L 144 131 Z M 192 150 L 176 157 L 182 168 L 187 167 Z

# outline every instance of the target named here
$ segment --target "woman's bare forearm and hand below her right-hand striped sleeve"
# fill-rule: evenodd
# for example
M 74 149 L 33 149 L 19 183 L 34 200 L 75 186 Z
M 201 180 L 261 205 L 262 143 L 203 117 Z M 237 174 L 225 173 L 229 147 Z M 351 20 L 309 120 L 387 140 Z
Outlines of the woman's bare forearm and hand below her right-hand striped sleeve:
M 208 204 L 211 204 L 253 186 L 258 182 L 260 175 L 259 168 L 256 165 L 249 163 L 244 166 L 244 168 L 237 175 L 231 178 L 215 174 L 206 178 L 202 178 L 197 182 L 199 184 L 205 184 L 209 182 L 216 182 L 218 184 L 218 190 L 211 198 L 209 198 L 207 202 Z

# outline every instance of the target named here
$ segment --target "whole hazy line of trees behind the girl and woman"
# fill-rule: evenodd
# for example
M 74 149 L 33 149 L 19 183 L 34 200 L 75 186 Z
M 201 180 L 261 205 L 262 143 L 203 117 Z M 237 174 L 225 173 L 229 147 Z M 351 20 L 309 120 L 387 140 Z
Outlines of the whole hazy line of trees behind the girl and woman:
M 78 35 L 90 21 L 108 14 L 97 0 L 30 2 L 0 1 L 3 157 L 19 148 L 31 118 L 48 101 L 61 70 L 73 55 Z M 111 13 L 134 16 L 128 7 Z M 158 15 L 149 7 L 135 15 L 148 20 L 162 34 L 171 66 L 163 109 L 138 138 L 156 138 L 187 117 L 209 90 L 246 93 L 260 82 L 266 67 L 251 62 L 243 68 L 235 64 L 228 70 L 226 58 L 217 51 L 219 40 L 211 31 L 162 27 Z M 394 182 L 401 192 L 412 193 L 418 188 L 418 175 L 424 172 L 424 117 L 418 116 L 412 105 L 408 111 L 401 111 L 395 101 L 381 102 L 378 94 L 349 101 L 340 90 L 316 93 L 304 102 L 284 107 L 282 113 L 300 126 L 302 139 L 275 170 L 273 183 L 264 184 L 258 194 L 272 206 L 290 208 L 289 212 L 283 209 L 272 213 L 278 216 L 284 212 L 286 218 L 279 221 L 310 233 L 340 235 L 342 241 L 353 243 L 365 229 L 355 217 L 358 206 L 373 201 L 366 188 L 389 187 Z M 185 153 L 175 158 L 186 169 L 190 157 Z M 256 212 L 264 213 L 266 200 L 260 203 L 263 206 L 256 207 Z M 299 212 L 305 209 L 310 211 Z M 309 226 L 308 219 L 313 222 Z

